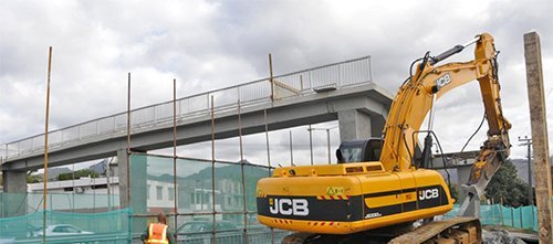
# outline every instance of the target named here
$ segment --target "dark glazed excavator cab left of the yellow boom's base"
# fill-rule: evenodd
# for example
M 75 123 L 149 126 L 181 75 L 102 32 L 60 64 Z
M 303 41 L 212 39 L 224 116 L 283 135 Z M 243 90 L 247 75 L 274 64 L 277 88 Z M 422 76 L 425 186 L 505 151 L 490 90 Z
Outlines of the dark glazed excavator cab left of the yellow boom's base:
M 344 141 L 336 149 L 337 162 L 378 161 L 380 159 L 382 145 L 383 140 L 380 138 Z

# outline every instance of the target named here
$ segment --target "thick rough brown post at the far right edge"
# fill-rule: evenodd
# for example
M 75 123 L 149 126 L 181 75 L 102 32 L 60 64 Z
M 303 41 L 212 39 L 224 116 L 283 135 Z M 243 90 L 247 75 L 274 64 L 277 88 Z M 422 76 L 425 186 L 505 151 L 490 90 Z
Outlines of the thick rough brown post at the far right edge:
M 538 33 L 524 34 L 524 57 L 532 126 L 532 146 L 534 148 L 535 203 L 540 243 L 553 243 L 552 234 L 552 182 L 549 162 L 547 120 L 543 88 L 542 51 Z

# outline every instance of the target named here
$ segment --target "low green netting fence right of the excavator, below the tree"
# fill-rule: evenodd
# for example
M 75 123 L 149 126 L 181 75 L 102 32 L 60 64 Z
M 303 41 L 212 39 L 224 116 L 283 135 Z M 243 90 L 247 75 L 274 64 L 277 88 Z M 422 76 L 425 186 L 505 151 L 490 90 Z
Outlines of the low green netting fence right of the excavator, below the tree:
M 459 212 L 458 204 L 446 214 L 446 218 L 456 216 L 457 212 Z M 483 225 L 507 225 L 538 231 L 538 210 L 535 206 L 481 205 L 480 215 L 480 222 Z

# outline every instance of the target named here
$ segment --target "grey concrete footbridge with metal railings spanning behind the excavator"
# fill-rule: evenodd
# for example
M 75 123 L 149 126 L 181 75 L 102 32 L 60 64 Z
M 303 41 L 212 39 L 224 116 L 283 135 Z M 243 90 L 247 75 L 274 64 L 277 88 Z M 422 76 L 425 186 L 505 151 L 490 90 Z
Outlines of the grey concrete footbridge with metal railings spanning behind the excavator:
M 378 136 L 390 103 L 390 94 L 373 82 L 365 56 L 180 98 L 177 144 L 210 140 L 212 110 L 218 139 L 238 136 L 239 113 L 243 135 L 264 131 L 267 113 L 269 130 L 338 119 L 341 139 Z M 170 100 L 131 112 L 134 150 L 173 146 L 173 107 Z M 116 156 L 126 148 L 126 129 L 124 112 L 50 131 L 49 165 Z M 0 145 L 4 174 L 42 168 L 43 144 L 44 135 L 36 135 Z

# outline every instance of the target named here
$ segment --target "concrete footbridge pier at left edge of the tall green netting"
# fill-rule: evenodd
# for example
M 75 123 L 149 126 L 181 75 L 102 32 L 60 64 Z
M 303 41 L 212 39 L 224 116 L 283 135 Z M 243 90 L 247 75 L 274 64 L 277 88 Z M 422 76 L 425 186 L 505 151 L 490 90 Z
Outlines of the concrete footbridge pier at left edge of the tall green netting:
M 118 160 L 118 178 L 119 178 L 119 203 L 121 206 L 131 206 L 133 214 L 147 214 L 147 157 L 146 156 L 131 156 L 131 168 L 127 174 L 127 152 L 126 149 L 117 151 Z M 128 191 L 131 195 L 128 195 Z M 133 232 L 142 233 L 146 229 L 146 218 L 133 218 Z

